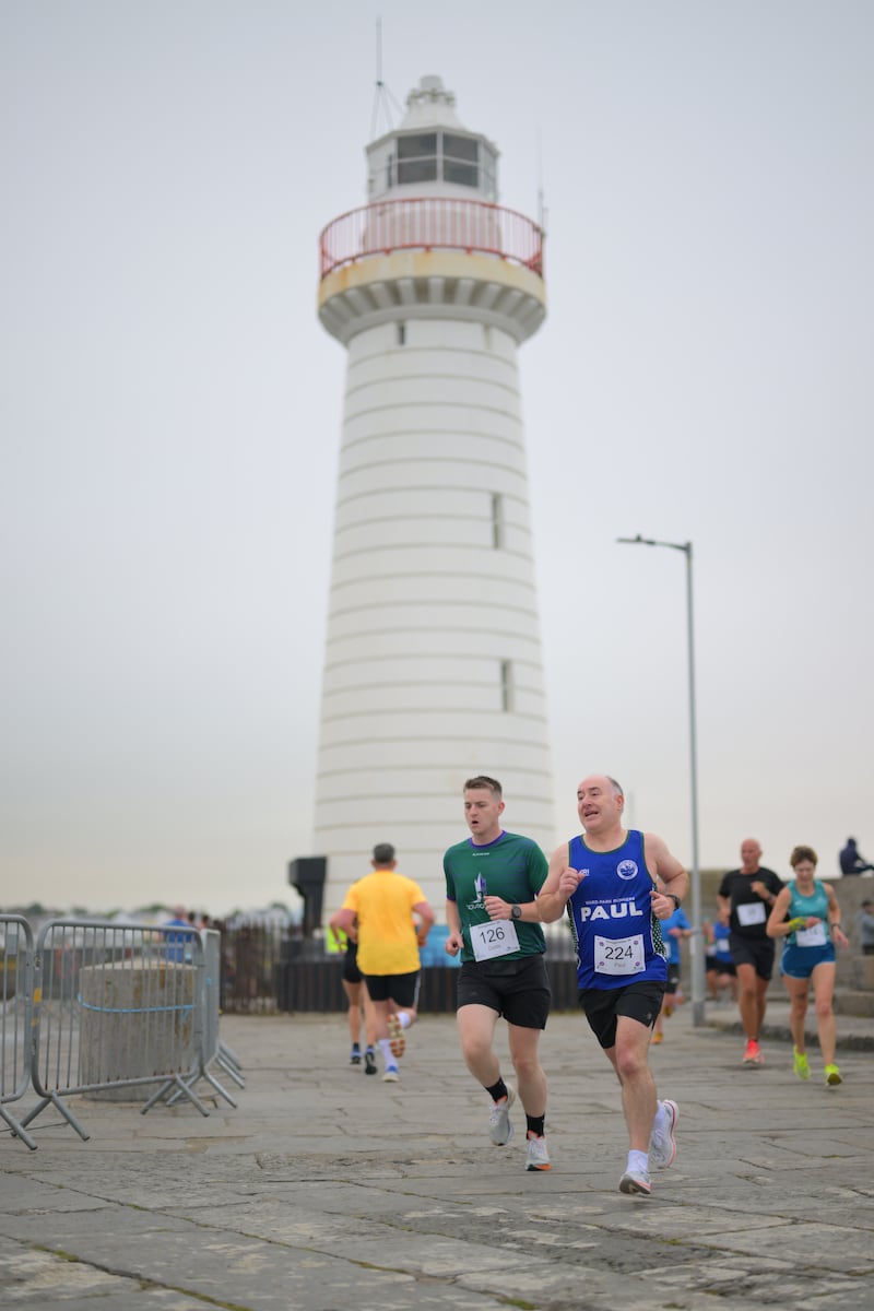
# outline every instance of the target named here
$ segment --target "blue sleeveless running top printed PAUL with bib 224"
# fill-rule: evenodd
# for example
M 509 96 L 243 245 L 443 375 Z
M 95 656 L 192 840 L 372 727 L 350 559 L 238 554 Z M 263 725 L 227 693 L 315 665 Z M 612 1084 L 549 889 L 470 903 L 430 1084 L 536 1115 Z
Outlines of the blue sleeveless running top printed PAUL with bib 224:
M 667 949 L 653 914 L 655 882 L 643 857 L 643 834 L 629 829 L 616 851 L 591 851 L 579 835 L 567 850 L 571 869 L 584 874 L 567 902 L 579 987 L 664 982 Z

